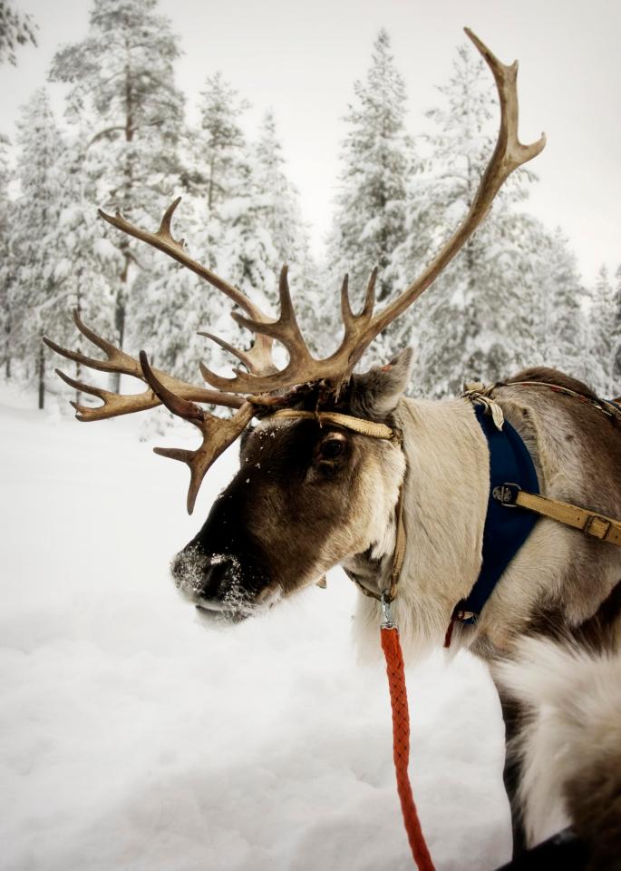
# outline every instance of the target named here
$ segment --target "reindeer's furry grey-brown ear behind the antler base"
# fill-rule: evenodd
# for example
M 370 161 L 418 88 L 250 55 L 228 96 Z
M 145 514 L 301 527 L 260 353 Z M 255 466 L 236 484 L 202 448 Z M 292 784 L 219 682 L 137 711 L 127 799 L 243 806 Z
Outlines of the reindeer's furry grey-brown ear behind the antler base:
M 412 348 L 406 347 L 386 366 L 374 366 L 351 381 L 351 406 L 361 417 L 382 419 L 392 414 L 412 373 Z

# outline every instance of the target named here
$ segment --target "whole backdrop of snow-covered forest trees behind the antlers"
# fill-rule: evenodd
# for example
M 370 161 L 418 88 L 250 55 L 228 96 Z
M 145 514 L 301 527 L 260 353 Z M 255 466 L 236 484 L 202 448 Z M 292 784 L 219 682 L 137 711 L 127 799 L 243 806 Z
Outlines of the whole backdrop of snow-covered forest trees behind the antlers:
M 19 44 L 34 41 L 34 26 L 0 8 L 5 33 L 15 34 L 0 59 L 19 64 Z M 244 95 L 226 70 L 206 67 L 199 122 L 189 124 L 175 83 L 179 54 L 157 0 L 94 0 L 88 34 L 60 48 L 49 70 L 50 83 L 64 85 L 63 117 L 42 82 L 0 141 L 0 357 L 5 379 L 31 388 L 39 407 L 50 394 L 67 395 L 41 338 L 78 347 L 73 309 L 131 353 L 148 347 L 159 367 L 186 379 L 199 378 L 200 359 L 217 369 L 231 362 L 199 331 L 250 340 L 226 298 L 121 237 L 97 208 L 155 230 L 181 196 L 173 229 L 190 255 L 272 311 L 277 273 L 288 263 L 309 344 L 326 354 L 339 335 L 344 273 L 362 295 L 378 266 L 380 304 L 403 289 L 461 220 L 493 148 L 497 98 L 476 53 L 458 46 L 437 104 L 408 118 L 390 35 L 381 30 L 344 106 L 332 230 L 317 252 L 275 114 L 266 109 L 258 129 L 248 129 Z M 464 381 L 540 363 L 602 396 L 615 393 L 621 266 L 583 279 L 562 229 L 529 213 L 536 183 L 529 169 L 511 178 L 482 228 L 364 365 L 412 345 L 414 395 L 454 395 Z

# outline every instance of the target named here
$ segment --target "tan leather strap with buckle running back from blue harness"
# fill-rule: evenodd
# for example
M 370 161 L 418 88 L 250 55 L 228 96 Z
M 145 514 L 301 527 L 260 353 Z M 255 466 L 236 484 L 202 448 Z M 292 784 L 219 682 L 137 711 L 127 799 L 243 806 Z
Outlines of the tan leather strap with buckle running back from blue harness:
M 597 514 L 595 511 L 587 511 L 578 505 L 567 502 L 559 502 L 558 499 L 548 499 L 534 493 L 520 490 L 516 484 L 503 484 L 494 489 L 493 496 L 503 505 L 511 507 L 519 505 L 537 514 L 550 517 L 559 524 L 579 529 L 587 535 L 592 535 L 600 542 L 616 544 L 621 547 L 621 521 L 606 517 L 606 514 Z

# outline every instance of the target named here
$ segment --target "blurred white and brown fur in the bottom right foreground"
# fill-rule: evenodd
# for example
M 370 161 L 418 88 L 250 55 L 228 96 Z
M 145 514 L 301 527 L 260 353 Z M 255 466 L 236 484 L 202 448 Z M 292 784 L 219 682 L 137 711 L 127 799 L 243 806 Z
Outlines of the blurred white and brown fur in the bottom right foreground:
M 495 676 L 527 711 L 509 753 L 523 763 L 529 844 L 570 824 L 590 846 L 590 871 L 620 871 L 621 651 L 525 639 Z

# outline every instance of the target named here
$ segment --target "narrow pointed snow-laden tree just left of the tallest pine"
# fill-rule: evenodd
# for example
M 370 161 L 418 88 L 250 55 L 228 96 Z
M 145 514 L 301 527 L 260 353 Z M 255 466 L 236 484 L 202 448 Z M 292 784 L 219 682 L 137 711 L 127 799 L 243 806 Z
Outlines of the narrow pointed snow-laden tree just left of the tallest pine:
M 39 408 L 43 408 L 48 352 L 41 339 L 48 333 L 62 342 L 68 338 L 71 321 L 65 272 L 58 257 L 63 142 L 44 88 L 22 109 L 17 144 L 20 194 L 10 244 L 19 266 L 9 287 L 11 344 L 25 380 L 36 384 Z

